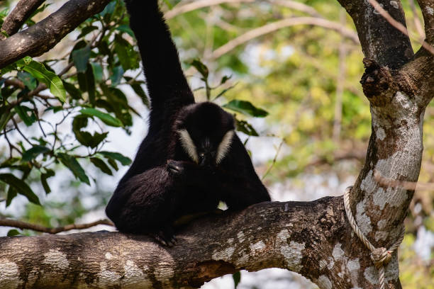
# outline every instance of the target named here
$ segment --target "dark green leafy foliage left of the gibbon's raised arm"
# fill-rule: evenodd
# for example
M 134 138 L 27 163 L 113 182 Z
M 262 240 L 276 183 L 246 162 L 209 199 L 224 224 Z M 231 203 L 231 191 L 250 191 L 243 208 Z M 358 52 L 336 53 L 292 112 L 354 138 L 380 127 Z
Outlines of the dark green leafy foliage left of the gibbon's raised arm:
M 34 15 L 46 7 L 41 6 Z M 6 15 L 5 10 L 0 12 L 0 22 Z M 79 35 L 69 56 L 43 62 L 24 57 L 1 69 L 0 137 L 6 140 L 12 132 L 23 136 L 15 144 L 8 139 L 10 154 L 0 157 L 0 168 L 6 171 L 0 174 L 0 181 L 7 184 L 6 205 L 17 194 L 40 204 L 27 184 L 35 171 L 45 193 L 50 193 L 49 178 L 55 176 L 57 164 L 88 185 L 91 179 L 81 162 L 91 162 L 109 175 L 109 166 L 118 170 L 116 162 L 130 164 L 122 154 L 103 150 L 109 134 L 106 126 L 129 132 L 131 113 L 136 113 L 118 86 L 130 86 L 148 103 L 143 81 L 127 76 L 139 68 L 140 57 L 126 15 L 123 1 L 112 1 L 77 28 Z M 33 23 L 30 19 L 26 25 Z M 62 116 L 50 123 L 47 119 L 52 115 Z M 69 137 L 67 142 L 68 132 L 59 127 L 71 120 L 74 139 L 71 142 Z M 35 137 L 23 134 L 20 123 L 33 130 Z M 99 131 L 87 131 L 89 123 Z

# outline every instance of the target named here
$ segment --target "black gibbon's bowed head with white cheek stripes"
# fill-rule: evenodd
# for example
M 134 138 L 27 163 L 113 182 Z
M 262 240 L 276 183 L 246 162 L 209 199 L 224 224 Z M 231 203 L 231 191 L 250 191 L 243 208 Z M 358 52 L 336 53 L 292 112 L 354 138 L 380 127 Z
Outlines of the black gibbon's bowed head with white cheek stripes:
M 190 159 L 201 166 L 217 165 L 228 153 L 235 134 L 233 116 L 214 103 L 194 103 L 179 113 L 176 130 Z

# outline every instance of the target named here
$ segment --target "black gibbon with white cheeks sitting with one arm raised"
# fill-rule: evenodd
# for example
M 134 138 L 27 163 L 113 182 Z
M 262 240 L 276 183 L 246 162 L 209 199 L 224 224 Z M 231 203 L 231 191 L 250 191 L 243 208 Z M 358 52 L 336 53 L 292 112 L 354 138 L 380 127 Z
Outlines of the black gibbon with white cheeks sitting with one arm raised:
M 172 246 L 183 215 L 269 201 L 234 119 L 195 103 L 157 0 L 126 0 L 151 100 L 148 135 L 118 183 L 106 214 L 121 232 L 152 234 Z M 128 145 L 128 144 L 126 144 Z

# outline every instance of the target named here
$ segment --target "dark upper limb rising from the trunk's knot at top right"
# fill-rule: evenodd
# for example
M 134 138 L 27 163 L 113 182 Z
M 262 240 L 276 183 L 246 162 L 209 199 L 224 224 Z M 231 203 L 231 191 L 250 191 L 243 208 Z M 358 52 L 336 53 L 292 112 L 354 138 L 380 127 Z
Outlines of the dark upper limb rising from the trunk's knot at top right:
M 355 23 L 366 58 L 389 68 L 401 67 L 413 57 L 410 40 L 392 26 L 369 1 L 338 0 Z M 406 27 L 401 1 L 378 1 L 390 16 Z

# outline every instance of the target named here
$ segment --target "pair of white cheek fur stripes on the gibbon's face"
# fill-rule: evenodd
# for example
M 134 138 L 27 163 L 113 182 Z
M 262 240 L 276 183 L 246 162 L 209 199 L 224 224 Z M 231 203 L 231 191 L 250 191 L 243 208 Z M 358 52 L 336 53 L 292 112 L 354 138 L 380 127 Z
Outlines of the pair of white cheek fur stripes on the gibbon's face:
M 187 130 L 178 130 L 179 133 L 179 139 L 181 140 L 181 145 L 184 148 L 185 152 L 189 154 L 189 157 L 196 163 L 199 164 L 199 155 L 197 153 L 196 145 L 194 145 L 193 140 L 191 140 L 191 137 L 189 135 L 189 132 Z M 217 148 L 217 154 L 216 154 L 216 164 L 219 164 L 228 153 L 228 150 L 230 149 L 230 145 L 232 144 L 232 138 L 234 135 L 234 130 L 229 130 L 226 132 L 226 135 L 223 136 L 223 139 L 220 142 L 220 145 L 218 145 Z

